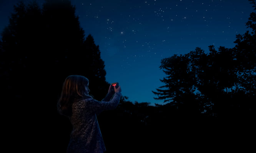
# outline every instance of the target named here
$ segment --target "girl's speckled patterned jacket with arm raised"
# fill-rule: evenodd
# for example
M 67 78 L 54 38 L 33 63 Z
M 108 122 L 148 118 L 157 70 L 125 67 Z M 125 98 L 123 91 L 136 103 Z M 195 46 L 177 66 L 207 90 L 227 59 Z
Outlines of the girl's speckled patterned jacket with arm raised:
M 108 93 L 102 101 L 93 98 L 74 101 L 70 117 L 73 130 L 70 134 L 67 153 L 103 153 L 106 151 L 96 114 L 104 110 L 115 109 L 120 98 L 121 93 L 118 92 L 114 96 L 113 93 Z

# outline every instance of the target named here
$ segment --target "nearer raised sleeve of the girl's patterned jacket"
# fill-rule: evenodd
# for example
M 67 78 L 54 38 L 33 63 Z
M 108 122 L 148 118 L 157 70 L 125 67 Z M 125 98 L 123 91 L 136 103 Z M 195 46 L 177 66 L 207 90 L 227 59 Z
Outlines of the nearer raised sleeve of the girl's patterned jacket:
M 91 112 L 99 114 L 100 112 L 104 110 L 113 110 L 115 109 L 120 101 L 121 93 L 115 93 L 113 98 L 110 101 L 97 101 L 95 99 L 88 99 L 86 103 L 87 109 L 89 109 Z M 105 98 L 104 98 L 105 99 Z

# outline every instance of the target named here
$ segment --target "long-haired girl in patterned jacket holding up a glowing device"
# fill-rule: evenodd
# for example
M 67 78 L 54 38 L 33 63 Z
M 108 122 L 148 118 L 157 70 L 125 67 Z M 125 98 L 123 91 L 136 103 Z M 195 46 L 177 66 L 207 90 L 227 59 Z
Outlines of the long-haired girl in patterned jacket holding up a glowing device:
M 93 99 L 88 93 L 89 80 L 81 75 L 68 76 L 58 101 L 58 111 L 67 116 L 73 126 L 67 153 L 103 153 L 105 144 L 96 114 L 115 109 L 121 98 L 121 87 L 111 91 L 102 101 Z

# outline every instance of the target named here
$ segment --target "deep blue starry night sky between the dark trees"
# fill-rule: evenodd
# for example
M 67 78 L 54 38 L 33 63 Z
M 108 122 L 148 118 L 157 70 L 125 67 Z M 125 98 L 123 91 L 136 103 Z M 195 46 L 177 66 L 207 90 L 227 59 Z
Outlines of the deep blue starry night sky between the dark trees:
M 0 0 L 0 32 L 19 0 Z M 25 4 L 30 0 L 22 0 Z M 37 0 L 42 5 L 44 0 Z M 106 81 L 118 81 L 135 102 L 164 104 L 151 91 L 164 85 L 161 59 L 196 47 L 234 47 L 253 12 L 248 0 L 71 0 L 85 37 L 105 61 Z

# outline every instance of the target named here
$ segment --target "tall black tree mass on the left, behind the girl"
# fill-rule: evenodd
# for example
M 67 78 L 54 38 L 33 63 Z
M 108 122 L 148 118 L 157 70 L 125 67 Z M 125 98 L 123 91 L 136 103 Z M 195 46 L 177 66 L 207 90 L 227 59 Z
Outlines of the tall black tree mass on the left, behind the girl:
M 48 137 L 33 145 L 64 152 L 71 127 L 58 114 L 57 100 L 65 78 L 88 77 L 91 94 L 98 100 L 110 84 L 99 47 L 90 34 L 85 39 L 70 0 L 45 0 L 42 8 L 38 6 L 36 1 L 14 5 L 0 41 L 0 88 L 5 107 L 19 114 L 15 124 L 26 125 L 18 133 L 35 133 L 29 135 L 31 140 Z

